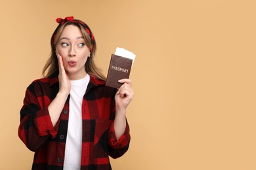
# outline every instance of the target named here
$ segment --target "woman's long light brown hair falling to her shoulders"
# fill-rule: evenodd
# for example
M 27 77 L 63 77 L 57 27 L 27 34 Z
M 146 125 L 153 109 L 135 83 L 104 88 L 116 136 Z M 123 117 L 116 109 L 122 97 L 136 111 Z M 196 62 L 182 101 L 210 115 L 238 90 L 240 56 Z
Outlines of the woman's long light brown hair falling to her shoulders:
M 99 78 L 101 80 L 106 80 L 106 77 L 103 75 L 101 69 L 99 69 L 95 64 L 95 52 L 96 52 L 96 42 L 95 37 L 90 37 L 89 33 L 93 35 L 91 32 L 91 29 L 86 25 L 84 26 L 84 22 L 81 20 L 73 20 L 73 21 L 67 21 L 64 24 L 59 24 L 58 27 L 56 27 L 52 37 L 51 37 L 51 54 L 49 56 L 49 59 L 45 63 L 45 67 L 43 67 L 42 75 L 44 77 L 49 77 L 51 75 L 58 74 L 58 59 L 56 57 L 56 44 L 60 40 L 60 35 L 64 28 L 67 25 L 75 25 L 77 26 L 83 35 L 83 38 L 85 39 L 85 44 L 88 46 L 89 49 L 91 49 L 91 56 L 87 59 L 85 63 L 85 71 L 89 75 L 96 76 L 96 78 Z M 89 30 L 88 30 L 89 29 Z

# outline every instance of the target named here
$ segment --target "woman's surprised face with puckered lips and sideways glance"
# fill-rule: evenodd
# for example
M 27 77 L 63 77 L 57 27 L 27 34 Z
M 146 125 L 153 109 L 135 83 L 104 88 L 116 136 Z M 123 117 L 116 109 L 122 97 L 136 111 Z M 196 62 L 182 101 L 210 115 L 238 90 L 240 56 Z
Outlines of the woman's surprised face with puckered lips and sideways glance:
M 56 44 L 56 54 L 62 57 L 64 69 L 70 80 L 84 78 L 85 62 L 90 56 L 90 50 L 85 44 L 81 30 L 75 25 L 67 25 Z

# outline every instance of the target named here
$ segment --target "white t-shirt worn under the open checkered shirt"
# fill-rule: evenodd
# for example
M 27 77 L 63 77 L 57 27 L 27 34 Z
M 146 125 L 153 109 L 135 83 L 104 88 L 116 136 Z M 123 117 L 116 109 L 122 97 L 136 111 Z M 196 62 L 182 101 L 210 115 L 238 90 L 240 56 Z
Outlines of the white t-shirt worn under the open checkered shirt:
M 90 76 L 80 80 L 70 80 L 70 114 L 68 134 L 65 147 L 64 170 L 80 169 L 82 148 L 82 114 L 83 95 L 87 89 Z

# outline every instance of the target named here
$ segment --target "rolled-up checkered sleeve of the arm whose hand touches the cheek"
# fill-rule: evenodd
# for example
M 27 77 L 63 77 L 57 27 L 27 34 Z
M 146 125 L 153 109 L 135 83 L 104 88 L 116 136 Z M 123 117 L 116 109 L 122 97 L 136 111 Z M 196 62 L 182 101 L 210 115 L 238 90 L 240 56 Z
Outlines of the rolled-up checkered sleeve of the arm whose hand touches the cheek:
M 42 96 L 40 96 L 42 98 Z M 42 102 L 47 97 L 40 99 L 34 90 L 33 83 L 26 90 L 24 97 L 24 105 L 20 110 L 20 126 L 18 127 L 18 135 L 26 146 L 35 151 L 56 137 L 58 133 L 58 124 L 53 127 L 49 110 L 47 107 L 42 108 Z M 47 103 L 47 102 L 46 102 Z

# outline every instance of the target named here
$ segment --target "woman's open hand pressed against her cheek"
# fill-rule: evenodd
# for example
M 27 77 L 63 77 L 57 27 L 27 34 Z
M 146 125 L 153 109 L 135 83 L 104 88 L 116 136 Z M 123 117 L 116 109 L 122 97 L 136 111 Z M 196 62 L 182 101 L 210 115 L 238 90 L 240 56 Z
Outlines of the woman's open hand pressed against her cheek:
M 66 73 L 64 69 L 62 56 L 60 56 L 60 54 L 57 54 L 57 58 L 58 58 L 58 83 L 59 83 L 58 93 L 69 95 L 71 90 L 70 78 L 68 77 L 68 73 Z

